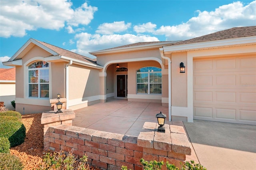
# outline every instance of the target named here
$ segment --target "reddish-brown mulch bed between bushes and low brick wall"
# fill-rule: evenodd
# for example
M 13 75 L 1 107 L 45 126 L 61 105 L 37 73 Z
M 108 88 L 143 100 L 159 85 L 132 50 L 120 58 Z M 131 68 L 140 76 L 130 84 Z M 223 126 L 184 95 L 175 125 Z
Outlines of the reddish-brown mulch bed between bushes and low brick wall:
M 42 113 L 22 115 L 22 123 L 26 127 L 24 143 L 10 149 L 10 153 L 18 156 L 24 165 L 24 170 L 40 168 L 44 151 L 44 126 L 41 125 Z M 48 151 L 50 152 L 50 151 Z M 91 170 L 100 170 L 91 167 Z

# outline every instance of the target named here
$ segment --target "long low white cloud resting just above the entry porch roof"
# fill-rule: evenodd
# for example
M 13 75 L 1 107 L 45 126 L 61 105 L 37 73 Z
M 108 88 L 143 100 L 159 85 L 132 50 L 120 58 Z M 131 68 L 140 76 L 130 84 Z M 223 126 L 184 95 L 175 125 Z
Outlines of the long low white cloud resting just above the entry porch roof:
M 77 49 L 73 49 L 72 51 L 86 56 L 88 56 L 88 52 L 90 51 L 97 51 L 130 43 L 159 41 L 156 37 L 147 35 L 136 36 L 133 34 L 101 36 L 100 34 L 80 33 L 76 34 L 75 38 L 77 39 Z

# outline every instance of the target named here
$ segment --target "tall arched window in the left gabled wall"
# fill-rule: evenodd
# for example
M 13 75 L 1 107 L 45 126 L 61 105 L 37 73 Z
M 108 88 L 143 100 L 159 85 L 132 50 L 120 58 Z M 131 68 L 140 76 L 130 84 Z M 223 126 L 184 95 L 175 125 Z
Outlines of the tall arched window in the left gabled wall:
M 29 97 L 49 98 L 49 63 L 36 61 L 28 66 Z

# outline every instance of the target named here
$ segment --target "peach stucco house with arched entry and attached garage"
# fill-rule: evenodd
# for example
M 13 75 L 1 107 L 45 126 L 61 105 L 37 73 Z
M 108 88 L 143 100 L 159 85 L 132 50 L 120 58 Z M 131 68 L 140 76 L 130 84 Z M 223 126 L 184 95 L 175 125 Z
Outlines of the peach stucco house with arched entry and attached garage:
M 60 93 L 74 110 L 114 97 L 162 103 L 169 121 L 256 125 L 256 26 L 90 53 L 30 38 L 4 62 L 16 67 L 16 111 L 48 111 Z

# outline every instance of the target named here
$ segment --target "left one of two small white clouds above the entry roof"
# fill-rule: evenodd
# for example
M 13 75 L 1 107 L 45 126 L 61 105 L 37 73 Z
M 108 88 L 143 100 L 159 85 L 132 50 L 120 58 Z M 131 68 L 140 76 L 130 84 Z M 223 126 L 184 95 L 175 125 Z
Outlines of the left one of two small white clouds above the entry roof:
M 100 26 L 98 26 L 98 30 L 96 30 L 96 33 L 99 34 L 114 34 L 115 32 L 123 32 L 126 31 L 128 28 L 131 27 L 131 23 L 125 24 L 124 21 L 119 22 L 113 22 L 113 23 L 103 23 Z

